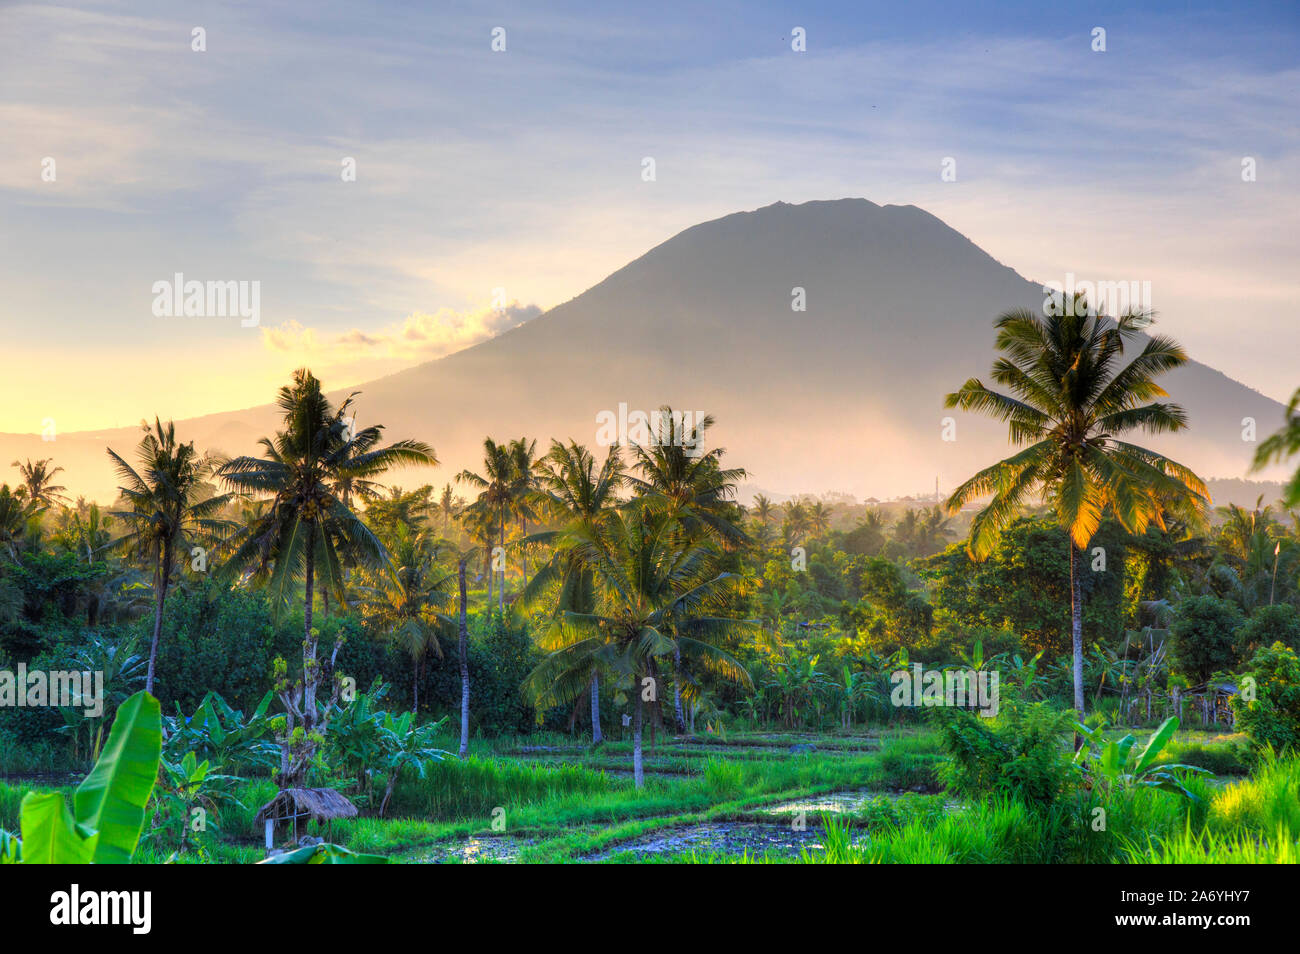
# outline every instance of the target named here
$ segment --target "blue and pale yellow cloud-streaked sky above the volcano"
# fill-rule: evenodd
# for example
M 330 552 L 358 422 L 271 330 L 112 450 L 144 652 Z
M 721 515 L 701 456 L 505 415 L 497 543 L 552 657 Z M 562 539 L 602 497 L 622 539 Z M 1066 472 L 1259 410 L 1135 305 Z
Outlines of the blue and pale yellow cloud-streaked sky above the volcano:
M 359 383 L 844 196 L 1035 281 L 1149 281 L 1286 400 L 1297 107 L 1295 3 L 0 0 L 0 432 Z M 159 313 L 178 273 L 256 287 L 256 325 Z

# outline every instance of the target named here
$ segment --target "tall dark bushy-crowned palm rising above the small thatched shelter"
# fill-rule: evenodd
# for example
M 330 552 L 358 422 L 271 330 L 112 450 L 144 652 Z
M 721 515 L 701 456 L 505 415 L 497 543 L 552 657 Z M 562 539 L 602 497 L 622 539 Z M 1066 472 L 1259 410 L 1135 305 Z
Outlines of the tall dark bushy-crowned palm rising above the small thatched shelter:
M 355 396 L 355 395 L 354 395 Z M 228 574 L 251 567 L 254 580 L 272 589 L 276 606 L 283 606 L 296 581 L 303 582 L 303 680 L 282 693 L 294 717 L 302 719 L 306 736 L 317 720 L 316 690 L 321 672 L 316 659 L 317 632 L 312 628 L 316 572 L 343 599 L 342 560 L 380 568 L 387 551 L 361 519 L 343 503 L 339 489 L 347 481 L 377 477 L 396 465 L 437 464 L 433 448 L 419 441 L 398 441 L 380 447 L 381 425 L 354 432 L 352 396 L 338 408 L 330 404 L 316 377 L 302 368 L 291 385 L 280 389 L 276 403 L 285 415 L 285 428 L 274 438 L 263 438 L 264 456 L 229 460 L 220 474 L 240 493 L 270 496 L 270 506 L 234 552 Z M 285 760 L 281 784 L 300 780 L 315 755 L 312 746 Z

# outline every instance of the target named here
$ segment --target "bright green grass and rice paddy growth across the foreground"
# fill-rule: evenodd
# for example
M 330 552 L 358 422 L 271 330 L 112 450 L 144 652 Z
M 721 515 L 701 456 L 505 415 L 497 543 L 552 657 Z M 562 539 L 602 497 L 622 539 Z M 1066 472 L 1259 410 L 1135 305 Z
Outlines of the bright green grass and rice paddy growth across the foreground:
M 404 779 L 389 818 L 367 812 L 309 825 L 303 833 L 329 834 L 356 851 L 393 860 L 460 860 L 467 840 L 510 846 L 520 862 L 662 863 L 1208 863 L 1295 862 L 1300 837 L 1300 758 L 1264 758 L 1253 775 L 1221 784 L 1193 779 L 1201 801 L 1138 786 L 1112 793 L 1102 805 L 1080 790 L 1046 808 L 1008 798 L 954 803 L 936 792 L 944 755 L 936 736 L 914 728 L 872 734 L 815 738 L 810 754 L 786 751 L 806 734 L 746 733 L 707 746 L 660 740 L 647 750 L 645 788 L 621 772 L 630 769 L 623 742 L 592 747 L 568 737 L 497 740 L 476 745 L 476 755 L 432 766 L 425 779 Z M 547 740 L 547 741 L 541 741 Z M 562 753 L 528 753 L 524 745 L 564 746 Z M 1213 768 L 1221 775 L 1244 768 L 1239 738 L 1179 733 L 1165 758 Z M 608 769 L 620 773 L 611 773 Z M 0 827 L 18 827 L 18 805 L 30 786 L 0 782 Z M 61 789 L 68 792 L 70 789 Z M 694 825 L 763 824 L 788 827 L 798 814 L 772 806 L 803 802 L 835 792 L 878 793 L 854 811 L 809 812 L 809 847 L 793 850 L 641 854 L 632 844 Z M 896 794 L 896 793 L 905 794 Z M 263 857 L 257 808 L 276 793 L 269 779 L 238 786 L 242 806 L 224 808 L 218 829 L 200 836 L 200 847 L 173 859 L 143 845 L 136 863 L 251 863 Z M 1095 811 L 1105 825 L 1095 828 Z M 494 810 L 500 810 L 494 828 Z M 816 842 L 820 842 L 816 846 Z M 732 844 L 732 842 L 728 842 Z M 740 844 L 745 844 L 741 841 Z

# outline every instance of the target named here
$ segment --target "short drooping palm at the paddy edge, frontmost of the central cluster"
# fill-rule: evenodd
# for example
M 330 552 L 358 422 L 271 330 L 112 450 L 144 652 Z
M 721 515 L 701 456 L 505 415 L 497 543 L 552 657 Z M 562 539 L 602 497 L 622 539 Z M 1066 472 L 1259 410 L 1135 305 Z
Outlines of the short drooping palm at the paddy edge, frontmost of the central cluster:
M 659 702 L 659 664 L 680 656 L 744 685 L 749 673 L 715 639 L 750 632 L 753 623 L 703 615 L 719 606 L 734 578 L 714 573 L 714 551 L 679 543 L 677 521 L 644 502 L 577 532 L 572 543 L 597 581 L 597 610 L 568 612 L 575 632 L 529 673 L 525 691 L 542 706 L 577 698 L 588 690 L 593 668 L 630 677 L 636 708 L 632 728 L 632 775 L 645 784 L 641 760 L 644 702 Z

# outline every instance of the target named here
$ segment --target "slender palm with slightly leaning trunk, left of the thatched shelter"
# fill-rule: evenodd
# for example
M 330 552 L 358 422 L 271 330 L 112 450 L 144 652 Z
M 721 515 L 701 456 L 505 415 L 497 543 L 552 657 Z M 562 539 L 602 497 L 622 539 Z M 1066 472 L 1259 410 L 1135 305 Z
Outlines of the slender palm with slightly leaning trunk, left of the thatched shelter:
M 150 643 L 150 668 L 144 691 L 153 691 L 153 672 L 162 637 L 162 606 L 166 602 L 172 574 L 176 572 L 177 550 L 187 538 L 203 534 L 220 539 L 230 524 L 218 519 L 230 494 L 213 494 L 208 478 L 212 460 L 194 450 L 194 442 L 178 443 L 176 425 L 153 420 L 135 450 L 139 471 L 108 448 L 122 486 L 118 491 L 130 509 L 110 511 L 127 532 L 116 541 L 133 558 L 153 572 L 153 638 Z

